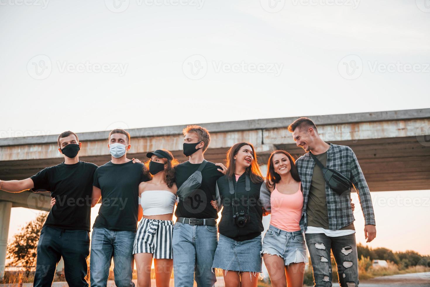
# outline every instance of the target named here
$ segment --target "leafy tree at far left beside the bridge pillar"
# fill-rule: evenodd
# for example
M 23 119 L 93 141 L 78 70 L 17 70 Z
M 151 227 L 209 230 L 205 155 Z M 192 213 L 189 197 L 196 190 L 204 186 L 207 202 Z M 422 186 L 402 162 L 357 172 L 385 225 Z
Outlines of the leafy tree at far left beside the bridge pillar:
M 8 266 L 22 266 L 26 276 L 36 268 L 37 243 L 40 231 L 46 221 L 47 212 L 39 213 L 36 219 L 14 235 L 13 241 L 7 247 L 7 258 L 12 259 Z

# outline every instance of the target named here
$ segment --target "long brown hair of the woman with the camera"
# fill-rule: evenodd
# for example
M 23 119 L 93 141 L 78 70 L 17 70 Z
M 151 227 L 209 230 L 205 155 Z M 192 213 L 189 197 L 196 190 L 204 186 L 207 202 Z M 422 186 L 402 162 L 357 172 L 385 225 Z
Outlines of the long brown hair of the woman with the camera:
M 249 145 L 252 148 L 252 153 L 254 154 L 251 165 L 246 168 L 245 173 L 249 176 L 252 182 L 259 183 L 264 181 L 264 177 L 261 174 L 260 166 L 257 162 L 257 154 L 255 153 L 254 146 L 249 142 L 238 142 L 234 144 L 227 151 L 227 178 L 234 177 L 234 171 L 236 170 L 236 164 L 234 162 L 234 156 L 239 152 L 240 148 L 244 145 Z

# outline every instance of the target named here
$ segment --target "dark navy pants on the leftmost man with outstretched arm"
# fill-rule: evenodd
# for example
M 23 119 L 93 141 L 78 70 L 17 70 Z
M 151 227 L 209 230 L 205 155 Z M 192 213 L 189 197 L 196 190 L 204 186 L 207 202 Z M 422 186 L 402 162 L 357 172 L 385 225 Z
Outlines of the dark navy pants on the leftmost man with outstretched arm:
M 64 230 L 44 226 L 37 245 L 34 286 L 51 286 L 55 268 L 61 257 L 64 260 L 64 277 L 69 286 L 88 286 L 86 258 L 89 255 L 89 232 Z

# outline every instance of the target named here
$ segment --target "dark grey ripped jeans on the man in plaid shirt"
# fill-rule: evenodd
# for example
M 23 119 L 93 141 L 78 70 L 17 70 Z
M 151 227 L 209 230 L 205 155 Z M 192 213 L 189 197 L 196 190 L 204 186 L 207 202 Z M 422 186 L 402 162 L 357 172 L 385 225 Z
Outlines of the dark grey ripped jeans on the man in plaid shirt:
M 355 234 L 329 237 L 324 233 L 305 234 L 312 261 L 313 280 L 316 287 L 332 286 L 330 250 L 338 266 L 341 287 L 358 286 L 358 262 Z

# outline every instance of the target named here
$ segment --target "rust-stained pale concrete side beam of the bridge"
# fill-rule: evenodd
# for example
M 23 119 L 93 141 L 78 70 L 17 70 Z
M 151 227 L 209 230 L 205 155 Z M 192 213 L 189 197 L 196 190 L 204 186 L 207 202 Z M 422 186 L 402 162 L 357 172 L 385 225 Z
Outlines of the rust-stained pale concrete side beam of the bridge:
M 430 109 L 429 109 L 430 110 Z M 428 118 L 411 120 L 390 120 L 318 125 L 319 134 L 326 142 L 383 139 L 430 135 L 430 114 Z M 82 140 L 81 140 L 82 141 Z M 82 141 L 81 157 L 109 155 L 107 138 Z M 212 132 L 211 149 L 226 149 L 236 142 L 251 142 L 260 153 L 272 151 L 275 145 L 294 144 L 286 127 L 264 130 L 242 130 L 231 132 Z M 129 154 L 144 154 L 157 148 L 181 151 L 182 135 L 162 135 L 133 138 Z M 0 161 L 62 158 L 57 143 L 0 146 Z

